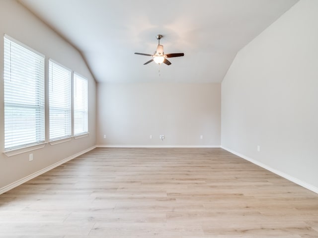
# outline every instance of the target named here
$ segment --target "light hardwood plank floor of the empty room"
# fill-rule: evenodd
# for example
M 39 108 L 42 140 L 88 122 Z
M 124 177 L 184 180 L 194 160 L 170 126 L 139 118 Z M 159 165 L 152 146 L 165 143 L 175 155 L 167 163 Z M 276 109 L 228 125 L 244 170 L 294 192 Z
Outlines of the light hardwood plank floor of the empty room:
M 0 195 L 0 238 L 274 237 L 318 238 L 318 194 L 219 148 L 96 148 Z

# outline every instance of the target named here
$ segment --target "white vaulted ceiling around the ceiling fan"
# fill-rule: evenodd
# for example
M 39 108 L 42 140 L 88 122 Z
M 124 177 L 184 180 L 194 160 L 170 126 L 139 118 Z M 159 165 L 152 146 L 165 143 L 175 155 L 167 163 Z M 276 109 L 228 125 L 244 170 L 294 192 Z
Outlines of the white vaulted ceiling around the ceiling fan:
M 298 0 L 18 0 L 86 60 L 97 82 L 221 82 L 238 51 Z M 151 62 L 158 40 L 171 65 Z

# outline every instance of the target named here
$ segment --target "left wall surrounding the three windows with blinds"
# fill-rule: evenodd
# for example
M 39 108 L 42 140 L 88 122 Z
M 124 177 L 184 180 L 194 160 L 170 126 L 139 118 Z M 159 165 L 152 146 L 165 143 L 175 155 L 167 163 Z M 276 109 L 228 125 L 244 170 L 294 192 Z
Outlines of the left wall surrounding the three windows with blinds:
M 75 70 L 88 79 L 89 132 L 87 137 L 72 139 L 58 145 L 47 144 L 43 149 L 7 157 L 4 151 L 3 134 L 3 35 L 22 42 L 49 58 Z M 9 184 L 30 176 L 55 163 L 69 158 L 96 144 L 96 83 L 79 52 L 49 29 L 23 6 L 13 0 L 0 0 L 0 192 Z M 46 83 L 48 82 L 46 73 Z M 47 98 L 48 95 L 46 95 Z M 48 106 L 48 105 L 46 105 Z M 46 111 L 48 122 L 48 111 Z M 46 123 L 48 126 L 48 123 Z M 47 128 L 48 131 L 48 128 Z M 33 161 L 28 155 L 33 153 Z

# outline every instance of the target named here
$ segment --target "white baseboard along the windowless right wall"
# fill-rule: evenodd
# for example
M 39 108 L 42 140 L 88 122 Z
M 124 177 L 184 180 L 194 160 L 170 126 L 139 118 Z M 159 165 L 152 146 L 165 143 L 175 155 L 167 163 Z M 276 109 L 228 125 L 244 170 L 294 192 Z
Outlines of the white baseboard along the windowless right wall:
M 290 176 L 288 174 L 285 174 L 285 173 L 283 173 L 283 172 L 281 172 L 279 170 L 273 169 L 273 168 L 271 168 L 271 167 L 269 167 L 269 166 L 267 166 L 267 165 L 265 165 L 265 164 L 263 164 L 263 163 L 261 163 L 261 162 L 259 162 L 257 160 L 251 159 L 251 158 L 249 158 L 249 157 L 247 157 L 245 155 L 240 154 L 237 151 L 231 150 L 230 148 L 227 148 L 225 146 L 221 146 L 221 148 L 231 152 L 232 154 L 235 154 L 235 155 L 241 157 L 244 160 L 247 160 L 247 161 L 249 161 L 249 162 L 251 162 L 251 163 L 253 163 L 255 165 L 258 165 L 258 166 L 262 167 L 265 170 L 268 170 L 268 171 L 270 171 L 270 172 L 272 172 L 272 173 L 274 173 L 274 174 L 276 174 L 276 175 L 278 175 L 280 177 L 283 177 L 284 179 L 290 180 L 290 181 L 292 181 L 292 182 L 294 182 L 294 183 L 296 183 L 296 184 L 298 184 L 298 185 L 300 185 L 302 187 L 305 187 L 305 188 L 307 188 L 307 189 L 309 189 L 309 190 L 311 190 L 313 192 L 318 193 L 318 187 L 315 187 L 315 186 L 313 186 L 313 185 L 311 185 L 311 184 L 309 184 L 307 182 L 304 182 L 304 181 L 302 181 L 300 179 L 296 179 L 295 177 L 292 177 L 292 176 Z

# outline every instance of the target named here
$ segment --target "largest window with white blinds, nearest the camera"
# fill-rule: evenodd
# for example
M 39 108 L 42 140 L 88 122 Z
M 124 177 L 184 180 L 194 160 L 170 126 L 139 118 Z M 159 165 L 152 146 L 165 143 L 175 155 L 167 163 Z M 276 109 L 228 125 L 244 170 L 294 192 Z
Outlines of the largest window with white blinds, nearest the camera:
M 4 149 L 45 140 L 44 56 L 4 36 Z

